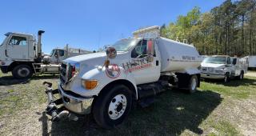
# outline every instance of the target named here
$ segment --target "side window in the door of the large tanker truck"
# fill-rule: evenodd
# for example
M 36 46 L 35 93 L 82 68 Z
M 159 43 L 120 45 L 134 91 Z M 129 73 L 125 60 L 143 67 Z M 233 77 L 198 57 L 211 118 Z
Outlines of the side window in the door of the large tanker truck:
M 137 46 L 134 47 L 134 50 L 131 51 L 131 58 L 143 58 L 143 54 L 146 54 L 146 40 L 138 42 Z

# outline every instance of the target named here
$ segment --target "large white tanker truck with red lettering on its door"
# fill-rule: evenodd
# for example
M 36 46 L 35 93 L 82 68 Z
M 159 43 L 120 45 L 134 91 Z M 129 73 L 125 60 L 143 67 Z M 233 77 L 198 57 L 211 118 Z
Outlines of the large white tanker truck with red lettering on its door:
M 103 128 L 120 124 L 134 103 L 147 106 L 165 86 L 196 91 L 201 56 L 194 46 L 159 36 L 159 27 L 134 32 L 106 49 L 62 62 L 57 90 L 45 82 L 52 121 L 92 113 Z M 54 100 L 53 95 L 61 98 Z M 59 110 L 59 104 L 65 108 Z

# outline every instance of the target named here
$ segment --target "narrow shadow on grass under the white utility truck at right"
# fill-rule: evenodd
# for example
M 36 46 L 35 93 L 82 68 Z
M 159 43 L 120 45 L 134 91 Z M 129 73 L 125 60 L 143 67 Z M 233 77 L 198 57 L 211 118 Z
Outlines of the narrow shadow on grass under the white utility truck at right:
M 204 79 L 205 82 L 216 83 L 223 86 L 256 86 L 256 80 L 252 78 L 231 79 L 230 82 L 223 82 L 222 80 Z

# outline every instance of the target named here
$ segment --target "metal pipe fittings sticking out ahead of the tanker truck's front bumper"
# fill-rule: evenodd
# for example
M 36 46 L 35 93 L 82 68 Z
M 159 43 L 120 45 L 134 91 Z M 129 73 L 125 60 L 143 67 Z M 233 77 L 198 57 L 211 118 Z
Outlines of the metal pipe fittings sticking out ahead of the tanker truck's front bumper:
M 58 94 L 58 89 L 52 89 L 52 83 L 50 82 L 43 82 L 44 86 L 46 86 L 46 94 L 48 99 L 48 106 L 46 107 L 46 114 L 50 115 L 52 122 L 58 122 L 61 119 L 69 118 L 70 120 L 77 121 L 78 117 L 74 114 L 71 114 L 70 111 L 65 110 L 63 106 L 58 108 L 58 105 L 62 104 L 62 98 L 58 98 L 54 100 L 54 94 Z

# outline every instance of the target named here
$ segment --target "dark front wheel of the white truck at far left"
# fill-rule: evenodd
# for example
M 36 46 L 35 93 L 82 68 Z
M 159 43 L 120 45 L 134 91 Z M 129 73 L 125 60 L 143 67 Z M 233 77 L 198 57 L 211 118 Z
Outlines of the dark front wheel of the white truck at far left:
M 30 66 L 27 65 L 18 65 L 15 66 L 11 72 L 14 78 L 30 78 L 32 76 L 32 69 Z

